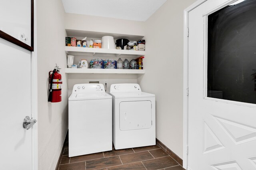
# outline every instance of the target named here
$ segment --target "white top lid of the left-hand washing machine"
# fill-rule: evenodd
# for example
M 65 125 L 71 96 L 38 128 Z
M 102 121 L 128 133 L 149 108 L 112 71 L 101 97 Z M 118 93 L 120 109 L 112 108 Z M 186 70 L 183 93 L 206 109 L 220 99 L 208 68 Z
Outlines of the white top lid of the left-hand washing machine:
M 96 100 L 96 99 L 112 99 L 112 96 L 108 93 L 82 93 L 76 94 L 72 93 L 68 98 L 68 101 L 76 101 L 76 100 Z

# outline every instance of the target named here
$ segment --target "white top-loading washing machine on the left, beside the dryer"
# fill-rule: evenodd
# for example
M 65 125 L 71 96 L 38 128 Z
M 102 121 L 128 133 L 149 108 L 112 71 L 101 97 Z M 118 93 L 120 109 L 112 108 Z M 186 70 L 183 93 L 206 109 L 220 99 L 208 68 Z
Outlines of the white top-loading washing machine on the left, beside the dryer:
M 69 157 L 112 150 L 112 96 L 102 84 L 76 84 L 68 98 Z

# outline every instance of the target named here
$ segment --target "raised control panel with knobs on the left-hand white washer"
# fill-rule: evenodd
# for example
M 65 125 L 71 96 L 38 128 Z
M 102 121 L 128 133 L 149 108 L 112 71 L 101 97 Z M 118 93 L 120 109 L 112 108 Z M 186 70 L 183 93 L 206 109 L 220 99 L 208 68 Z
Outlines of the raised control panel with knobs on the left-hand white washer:
M 105 92 L 103 84 L 76 84 L 73 87 L 72 93 L 90 93 L 90 92 Z

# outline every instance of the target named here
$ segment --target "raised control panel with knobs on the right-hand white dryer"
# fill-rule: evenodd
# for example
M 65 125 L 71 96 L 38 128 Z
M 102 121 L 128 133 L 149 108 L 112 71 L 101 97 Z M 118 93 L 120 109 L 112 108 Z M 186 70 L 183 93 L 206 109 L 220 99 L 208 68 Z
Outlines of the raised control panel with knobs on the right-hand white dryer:
M 136 83 L 122 83 L 112 84 L 110 86 L 111 92 L 141 92 L 140 85 Z

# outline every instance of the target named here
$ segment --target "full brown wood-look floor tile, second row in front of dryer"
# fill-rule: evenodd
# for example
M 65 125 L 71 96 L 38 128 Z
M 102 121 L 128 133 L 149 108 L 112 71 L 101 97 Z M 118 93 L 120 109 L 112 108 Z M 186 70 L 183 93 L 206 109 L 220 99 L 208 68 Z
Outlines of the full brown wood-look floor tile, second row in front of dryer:
M 128 164 L 132 162 L 138 162 L 138 161 L 154 159 L 154 158 L 148 151 L 144 151 L 144 152 L 138 152 L 133 154 L 120 155 L 120 159 L 122 160 L 123 164 Z

